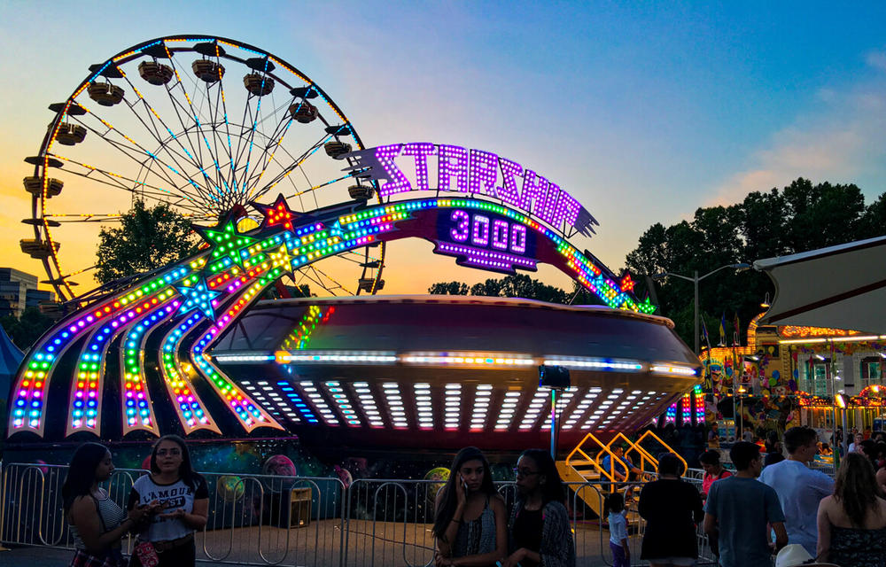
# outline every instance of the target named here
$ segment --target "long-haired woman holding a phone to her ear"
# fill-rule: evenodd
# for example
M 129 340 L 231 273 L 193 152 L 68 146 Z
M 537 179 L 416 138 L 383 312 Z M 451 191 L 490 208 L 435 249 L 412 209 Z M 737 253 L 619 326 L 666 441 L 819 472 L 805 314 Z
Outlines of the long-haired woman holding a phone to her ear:
M 508 532 L 489 462 L 477 447 L 465 447 L 455 454 L 450 471 L 436 499 L 436 566 L 494 565 L 507 552 Z

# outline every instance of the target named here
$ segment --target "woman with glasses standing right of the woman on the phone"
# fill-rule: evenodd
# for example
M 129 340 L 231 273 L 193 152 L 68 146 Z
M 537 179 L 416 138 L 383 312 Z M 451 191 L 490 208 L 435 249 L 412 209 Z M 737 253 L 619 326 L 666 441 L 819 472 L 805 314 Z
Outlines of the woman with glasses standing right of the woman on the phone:
M 551 455 L 529 449 L 517 461 L 517 503 L 510 515 L 502 567 L 575 567 L 575 542 L 563 502 L 566 491 Z

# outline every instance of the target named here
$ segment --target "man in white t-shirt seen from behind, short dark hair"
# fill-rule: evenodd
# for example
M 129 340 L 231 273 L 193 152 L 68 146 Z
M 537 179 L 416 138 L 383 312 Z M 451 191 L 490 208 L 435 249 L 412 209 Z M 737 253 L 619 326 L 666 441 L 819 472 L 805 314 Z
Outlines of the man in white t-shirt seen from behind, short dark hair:
M 788 542 L 800 544 L 813 557 L 818 542 L 819 501 L 834 493 L 834 480 L 806 465 L 818 452 L 818 437 L 809 427 L 791 427 L 784 433 L 788 458 L 769 465 L 760 475 L 760 482 L 772 486 L 778 494 Z

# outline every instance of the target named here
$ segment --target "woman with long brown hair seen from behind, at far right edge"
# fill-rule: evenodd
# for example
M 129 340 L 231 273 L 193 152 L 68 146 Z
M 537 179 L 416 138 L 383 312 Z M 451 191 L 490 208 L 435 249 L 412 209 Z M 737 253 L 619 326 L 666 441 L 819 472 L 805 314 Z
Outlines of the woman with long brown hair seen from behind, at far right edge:
M 819 561 L 852 567 L 886 565 L 886 500 L 864 454 L 843 457 L 834 494 L 819 503 L 818 527 Z

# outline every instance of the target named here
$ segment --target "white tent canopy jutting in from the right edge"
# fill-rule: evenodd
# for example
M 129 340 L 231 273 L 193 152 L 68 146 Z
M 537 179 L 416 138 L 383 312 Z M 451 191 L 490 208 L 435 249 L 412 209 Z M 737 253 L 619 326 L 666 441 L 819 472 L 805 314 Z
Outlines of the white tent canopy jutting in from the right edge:
M 775 283 L 760 324 L 886 335 L 886 237 L 754 262 Z

